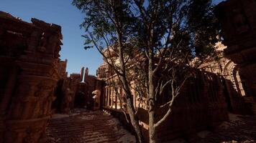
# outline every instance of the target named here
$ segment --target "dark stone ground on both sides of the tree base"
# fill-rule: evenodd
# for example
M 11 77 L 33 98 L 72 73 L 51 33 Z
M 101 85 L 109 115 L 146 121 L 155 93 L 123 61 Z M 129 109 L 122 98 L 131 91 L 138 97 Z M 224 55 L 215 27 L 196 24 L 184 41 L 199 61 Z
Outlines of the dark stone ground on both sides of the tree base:
M 229 122 L 223 122 L 214 131 L 197 133 L 195 143 L 256 143 L 256 117 L 229 114 Z M 76 109 L 72 114 L 53 115 L 47 135 L 50 143 L 103 143 L 135 142 L 117 119 L 104 112 L 88 112 Z M 187 143 L 175 139 L 171 143 Z

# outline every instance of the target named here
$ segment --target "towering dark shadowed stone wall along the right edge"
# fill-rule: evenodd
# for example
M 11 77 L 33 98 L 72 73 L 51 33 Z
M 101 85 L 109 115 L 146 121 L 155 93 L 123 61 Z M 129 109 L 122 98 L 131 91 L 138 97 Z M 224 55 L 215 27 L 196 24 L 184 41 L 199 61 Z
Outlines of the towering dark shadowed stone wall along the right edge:
M 256 1 L 228 0 L 216 7 L 225 56 L 234 61 L 247 90 L 246 102 L 256 114 Z

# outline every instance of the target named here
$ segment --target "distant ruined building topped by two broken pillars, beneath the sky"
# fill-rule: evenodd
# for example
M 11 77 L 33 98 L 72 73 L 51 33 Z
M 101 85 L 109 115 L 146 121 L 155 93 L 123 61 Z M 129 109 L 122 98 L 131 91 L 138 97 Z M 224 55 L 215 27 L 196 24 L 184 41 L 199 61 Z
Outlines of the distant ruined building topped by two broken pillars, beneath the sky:
M 101 91 L 101 80 L 88 74 L 88 68 L 81 69 L 80 74 L 67 74 L 60 79 L 55 90 L 56 99 L 52 103 L 52 112 L 69 113 L 70 109 L 93 109 L 93 91 Z

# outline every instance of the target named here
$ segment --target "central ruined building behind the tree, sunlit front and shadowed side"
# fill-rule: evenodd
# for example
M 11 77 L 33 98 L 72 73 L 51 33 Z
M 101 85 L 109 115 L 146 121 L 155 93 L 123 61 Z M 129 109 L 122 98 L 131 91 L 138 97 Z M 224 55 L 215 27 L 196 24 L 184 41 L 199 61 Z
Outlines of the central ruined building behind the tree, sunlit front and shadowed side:
M 127 124 L 122 115 L 122 110 L 125 110 L 126 107 L 122 85 L 116 84 L 119 83 L 119 79 L 114 69 L 111 69 L 111 66 L 106 62 L 106 60 L 117 59 L 113 50 L 109 48 L 109 50 L 104 51 L 104 56 L 107 59 L 97 70 L 98 78 L 105 83 L 104 90 L 101 91 L 101 106 L 102 109 L 106 109 L 119 117 L 124 124 Z M 118 64 L 119 62 L 114 60 L 114 63 Z M 212 128 L 227 120 L 227 104 L 219 77 L 208 71 L 192 70 L 196 73 L 196 78 L 188 80 L 181 91 L 182 93 L 175 101 L 173 114 L 157 129 L 157 132 L 160 132 L 158 138 L 161 139 L 161 142 L 168 142 L 180 136 L 189 137 L 198 130 Z M 134 81 L 129 82 L 132 87 L 134 108 L 137 109 L 140 104 L 138 116 L 144 137 L 147 140 L 149 128 L 147 99 L 142 99 L 140 102 L 140 98 L 144 97 L 140 97 L 136 92 Z M 165 103 L 168 99 L 163 98 L 160 101 Z M 164 114 L 165 109 L 161 109 L 157 111 L 156 117 L 160 119 Z M 127 127 L 129 127 L 128 124 Z

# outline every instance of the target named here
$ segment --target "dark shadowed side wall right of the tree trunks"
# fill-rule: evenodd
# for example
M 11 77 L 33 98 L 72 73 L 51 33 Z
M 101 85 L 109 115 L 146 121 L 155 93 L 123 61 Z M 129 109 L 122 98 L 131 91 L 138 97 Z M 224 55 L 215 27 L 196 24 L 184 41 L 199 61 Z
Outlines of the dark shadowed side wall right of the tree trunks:
M 214 129 L 227 121 L 227 104 L 220 82 L 216 74 L 197 71 L 196 78 L 188 80 L 176 99 L 173 113 L 158 127 L 160 141 L 176 137 L 193 139 L 196 132 Z M 166 110 L 160 109 L 156 117 L 163 117 Z

